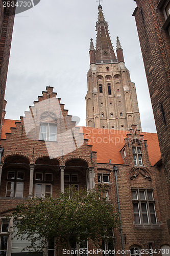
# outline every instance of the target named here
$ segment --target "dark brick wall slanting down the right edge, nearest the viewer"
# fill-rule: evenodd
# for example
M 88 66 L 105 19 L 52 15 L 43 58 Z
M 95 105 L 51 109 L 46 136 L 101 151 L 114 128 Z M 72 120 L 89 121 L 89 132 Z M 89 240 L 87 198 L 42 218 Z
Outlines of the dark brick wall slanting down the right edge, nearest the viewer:
M 136 4 L 133 15 L 170 198 L 170 1 L 136 0 Z

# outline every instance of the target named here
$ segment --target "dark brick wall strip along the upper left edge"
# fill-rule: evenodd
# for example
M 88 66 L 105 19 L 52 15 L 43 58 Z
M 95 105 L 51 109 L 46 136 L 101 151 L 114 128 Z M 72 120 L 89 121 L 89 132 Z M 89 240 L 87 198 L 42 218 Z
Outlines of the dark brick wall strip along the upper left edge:
M 10 0 L 9 2 L 12 2 Z M 14 0 L 13 2 L 16 2 Z M 0 120 L 4 104 L 7 81 L 8 63 L 11 50 L 11 39 L 14 24 L 15 7 L 3 7 L 5 1 L 0 1 Z

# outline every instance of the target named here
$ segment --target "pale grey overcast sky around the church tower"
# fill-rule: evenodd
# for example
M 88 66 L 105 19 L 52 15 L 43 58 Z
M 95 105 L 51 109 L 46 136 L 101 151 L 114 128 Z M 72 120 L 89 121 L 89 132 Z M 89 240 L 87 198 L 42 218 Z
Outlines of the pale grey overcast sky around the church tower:
M 54 87 L 69 115 L 85 126 L 90 38 L 95 42 L 98 18 L 95 0 L 41 0 L 15 16 L 6 96 L 8 119 L 19 119 L 45 91 Z M 136 84 L 142 131 L 156 132 L 137 35 L 133 0 L 101 2 L 114 49 L 116 36 L 125 65 Z

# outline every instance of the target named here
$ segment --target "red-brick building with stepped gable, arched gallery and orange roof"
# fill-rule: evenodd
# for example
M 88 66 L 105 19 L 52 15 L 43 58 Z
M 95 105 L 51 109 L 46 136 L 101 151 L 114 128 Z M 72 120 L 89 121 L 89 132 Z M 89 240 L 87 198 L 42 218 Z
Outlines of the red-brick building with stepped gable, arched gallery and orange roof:
M 125 250 L 170 248 L 166 223 L 170 205 L 164 197 L 167 187 L 164 173 L 154 165 L 160 159 L 157 135 L 140 133 L 136 125 L 129 132 L 76 127 L 56 95 L 52 87 L 47 87 L 25 117 L 2 121 L 0 235 L 1 241 L 8 240 L 4 255 L 24 254 L 22 242 L 18 248 L 19 242 L 11 240 L 7 230 L 4 232 L 6 217 L 11 220 L 17 203 L 43 194 L 56 196 L 71 184 L 79 189 L 101 184 L 107 185 L 106 197 L 117 206 L 115 176 L 123 241 L 119 231 L 114 230 L 112 248 L 110 244 L 109 248 L 122 250 L 122 243 Z M 95 248 L 89 241 L 87 246 Z M 109 248 L 103 244 L 103 249 Z M 63 255 L 57 245 L 54 253 Z M 154 254 L 159 255 L 158 251 Z

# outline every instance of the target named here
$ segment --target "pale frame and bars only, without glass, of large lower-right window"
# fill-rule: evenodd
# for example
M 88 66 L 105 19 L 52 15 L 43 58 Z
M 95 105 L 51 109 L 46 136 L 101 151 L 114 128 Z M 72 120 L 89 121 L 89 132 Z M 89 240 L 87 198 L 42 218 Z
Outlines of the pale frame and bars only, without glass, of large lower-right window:
M 135 223 L 135 220 L 134 220 L 135 225 L 136 226 L 138 226 L 138 225 L 143 225 L 143 226 L 158 225 L 156 210 L 155 210 L 155 200 L 154 200 L 154 197 L 153 197 L 153 190 L 152 189 L 139 189 L 139 188 L 134 189 L 133 188 L 133 189 L 131 189 L 131 194 L 133 193 L 133 191 L 136 191 L 137 198 L 133 199 L 133 197 L 132 197 L 132 204 L 133 204 L 133 207 L 134 207 L 134 204 L 138 205 L 139 220 L 140 220 L 140 223 Z M 140 198 L 140 192 L 141 191 L 144 191 L 145 199 Z M 150 193 L 150 192 L 152 192 L 152 199 L 148 198 L 148 193 Z M 143 203 L 145 203 L 145 206 L 146 206 L 146 209 L 147 209 L 146 212 L 142 211 L 142 204 Z M 150 211 L 150 204 L 154 205 L 154 212 Z M 134 211 L 134 208 L 133 208 L 133 214 L 134 214 L 134 217 L 135 217 L 135 214 L 138 214 L 138 212 Z M 144 223 L 144 220 L 143 220 L 143 215 L 146 215 L 146 214 L 147 214 L 147 218 L 148 218 L 148 223 Z M 154 215 L 156 223 L 152 223 L 152 218 L 151 218 L 152 215 Z

